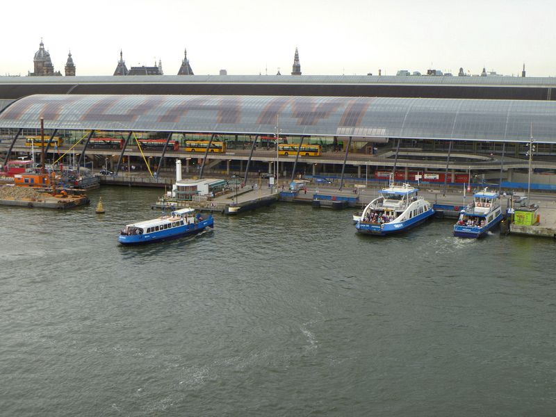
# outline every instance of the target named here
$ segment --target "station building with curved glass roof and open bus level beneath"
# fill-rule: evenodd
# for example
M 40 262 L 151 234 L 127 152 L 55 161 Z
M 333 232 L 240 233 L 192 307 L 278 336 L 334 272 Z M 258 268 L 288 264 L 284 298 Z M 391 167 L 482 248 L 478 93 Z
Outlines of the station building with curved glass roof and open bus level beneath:
M 245 179 L 275 171 L 292 179 L 376 178 L 395 168 L 408 181 L 427 174 L 467 182 L 471 172 L 482 181 L 521 181 L 530 142 L 532 168 L 555 167 L 553 100 L 29 95 L 0 113 L 5 160 L 29 151 L 25 138 L 36 136 L 40 117 L 49 138 L 64 138 L 48 145 L 51 161 L 71 148 L 80 165 L 110 158 L 116 171 L 142 161 L 171 170 L 180 158 L 186 172 Z

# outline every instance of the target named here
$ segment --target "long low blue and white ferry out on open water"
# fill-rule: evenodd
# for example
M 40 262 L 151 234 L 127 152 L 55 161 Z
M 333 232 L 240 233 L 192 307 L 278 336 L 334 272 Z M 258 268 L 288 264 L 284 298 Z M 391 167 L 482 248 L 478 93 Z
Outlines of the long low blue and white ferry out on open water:
M 122 245 L 140 245 L 197 234 L 206 227 L 214 227 L 212 215 L 195 214 L 194 208 L 181 208 L 153 220 L 126 224 L 117 240 Z

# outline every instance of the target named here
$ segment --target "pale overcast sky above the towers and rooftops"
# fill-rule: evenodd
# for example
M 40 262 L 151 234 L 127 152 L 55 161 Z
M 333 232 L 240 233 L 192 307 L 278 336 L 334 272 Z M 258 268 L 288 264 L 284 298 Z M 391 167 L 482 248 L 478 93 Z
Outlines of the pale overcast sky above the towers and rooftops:
M 133 0 L 6 1 L 0 75 L 33 72 L 42 38 L 55 70 L 112 75 L 162 61 L 177 74 L 187 49 L 198 75 L 395 75 L 436 69 L 556 76 L 556 1 Z

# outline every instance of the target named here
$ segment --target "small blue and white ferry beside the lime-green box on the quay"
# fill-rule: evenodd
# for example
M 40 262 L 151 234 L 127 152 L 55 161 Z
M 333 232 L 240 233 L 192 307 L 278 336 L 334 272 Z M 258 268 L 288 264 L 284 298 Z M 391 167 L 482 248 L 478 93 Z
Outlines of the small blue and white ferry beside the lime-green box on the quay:
M 473 202 L 459 212 L 454 236 L 480 238 L 502 220 L 500 196 L 488 188 L 473 194 Z

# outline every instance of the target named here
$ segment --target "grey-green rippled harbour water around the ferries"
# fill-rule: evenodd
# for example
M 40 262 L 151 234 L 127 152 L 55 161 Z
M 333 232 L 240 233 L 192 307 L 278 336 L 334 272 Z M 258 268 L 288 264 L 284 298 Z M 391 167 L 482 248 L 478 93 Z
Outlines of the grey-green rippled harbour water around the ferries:
M 0 207 L 0 415 L 554 415 L 553 240 L 278 204 L 117 245 L 160 193 Z

